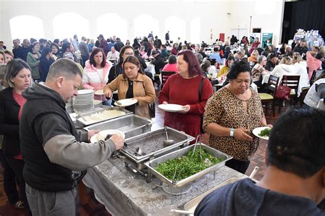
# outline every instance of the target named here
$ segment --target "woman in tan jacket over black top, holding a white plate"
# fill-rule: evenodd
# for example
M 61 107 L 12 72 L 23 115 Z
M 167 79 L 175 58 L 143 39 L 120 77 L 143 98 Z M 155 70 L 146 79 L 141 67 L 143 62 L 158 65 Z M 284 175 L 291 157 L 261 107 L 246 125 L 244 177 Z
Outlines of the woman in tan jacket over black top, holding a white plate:
M 123 74 L 104 87 L 104 95 L 111 98 L 112 92 L 118 91 L 119 99 L 138 99 L 136 104 L 126 109 L 150 119 L 148 104 L 156 99 L 152 80 L 143 73 L 139 60 L 134 56 L 125 58 L 122 68 Z

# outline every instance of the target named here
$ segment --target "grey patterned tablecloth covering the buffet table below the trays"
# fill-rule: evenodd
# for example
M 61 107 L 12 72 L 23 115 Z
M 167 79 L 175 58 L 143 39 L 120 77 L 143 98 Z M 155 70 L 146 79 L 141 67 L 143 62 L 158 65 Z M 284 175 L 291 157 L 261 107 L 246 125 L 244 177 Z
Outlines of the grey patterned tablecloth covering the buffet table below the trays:
M 88 169 L 84 184 L 95 192 L 96 199 L 106 206 L 112 215 L 176 215 L 171 209 L 183 209 L 186 202 L 201 195 L 225 180 L 243 174 L 228 167 L 221 167 L 216 173 L 208 174 L 208 181 L 202 178 L 193 183 L 189 193 L 170 195 L 161 188 L 152 189 L 145 177 L 133 173 L 117 158 Z M 207 182 L 207 183 L 206 183 Z

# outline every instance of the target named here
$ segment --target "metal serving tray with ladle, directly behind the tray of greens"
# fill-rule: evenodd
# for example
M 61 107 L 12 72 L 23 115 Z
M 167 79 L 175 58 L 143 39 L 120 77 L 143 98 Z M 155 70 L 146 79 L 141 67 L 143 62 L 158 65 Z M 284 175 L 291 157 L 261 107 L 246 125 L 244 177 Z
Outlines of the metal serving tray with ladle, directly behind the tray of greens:
M 193 136 L 189 136 L 184 132 L 180 132 L 169 127 L 166 128 L 168 138 L 175 141 L 173 145 L 169 145 L 167 147 L 163 145 L 163 141 L 166 140 L 166 133 L 164 128 L 159 128 L 158 130 L 146 132 L 145 134 L 134 136 L 131 139 L 125 140 L 125 143 L 127 143 L 128 146 L 132 147 L 133 149 L 140 147 L 143 150 L 143 153 L 145 153 L 144 156 L 134 154 L 134 152 L 130 151 L 128 147 L 123 147 L 121 149 L 121 153 L 134 163 L 142 163 L 149 160 L 149 158 L 157 158 L 163 154 L 167 154 L 167 152 L 171 152 L 182 145 L 187 146 L 189 145 L 190 141 L 194 140 Z

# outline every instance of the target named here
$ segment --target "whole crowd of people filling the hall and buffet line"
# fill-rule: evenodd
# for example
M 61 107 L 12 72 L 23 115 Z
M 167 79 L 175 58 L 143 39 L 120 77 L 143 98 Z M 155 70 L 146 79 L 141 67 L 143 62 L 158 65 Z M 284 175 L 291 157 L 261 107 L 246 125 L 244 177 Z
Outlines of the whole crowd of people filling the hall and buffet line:
M 262 48 L 258 38 L 250 39 L 243 37 L 238 43 L 233 36 L 225 43 L 217 40 L 213 45 L 204 41 L 202 45 L 193 45 L 186 40 L 181 43 L 180 38 L 173 43 L 167 32 L 163 45 L 158 36 L 154 37 L 150 32 L 141 40 L 134 38 L 132 45 L 130 40 L 124 44 L 116 36 L 104 38 L 102 34 L 97 40 L 82 36 L 79 41 L 75 35 L 71 40 L 56 39 L 53 43 L 43 38 L 31 38 L 24 39 L 21 45 L 19 39 L 13 40 L 12 52 L 0 49 L 0 79 L 1 88 L 4 88 L 0 92 L 1 156 L 3 184 L 10 204 L 25 208 L 28 215 L 47 215 L 48 211 L 53 211 L 49 206 L 54 206 L 58 215 L 74 214 L 73 196 L 77 182 L 85 175 L 86 169 L 120 149 L 124 140 L 115 135 L 89 144 L 91 136 L 99 131 L 77 132 L 67 115 L 65 104 L 77 96 L 80 88 L 103 91 L 104 94 L 96 94 L 95 99 L 103 101 L 104 105 L 111 106 L 112 100 L 136 99 L 136 104 L 127 109 L 150 119 L 149 105 L 156 100 L 154 85 L 156 82 L 158 86 L 159 81 L 152 73 L 144 71 L 147 67 L 145 60 L 151 61 L 156 74 L 160 71 L 176 72 L 169 76 L 160 90 L 158 103 L 179 104 L 182 110 L 165 112 L 164 125 L 194 137 L 204 132 L 210 134 L 209 145 L 232 156 L 226 165 L 245 173 L 258 148 L 258 138 L 252 130 L 261 126 L 272 128 L 267 124 L 261 98 L 258 97 L 258 92 L 265 91 L 263 76 L 275 75 L 281 80 L 283 75 L 300 75 L 299 88 L 310 87 L 304 100 L 307 106 L 315 108 L 320 103 L 324 104 L 325 97 L 325 73 L 310 86 L 313 71 L 324 69 L 324 47 L 311 47 L 313 50 L 309 50 L 302 40 L 293 48 L 282 45 L 280 49 L 275 49 L 268 40 Z M 167 47 L 170 47 L 169 50 Z M 218 70 L 215 77 L 210 75 L 210 67 Z M 226 82 L 214 93 L 213 85 L 219 79 L 226 79 Z M 258 86 L 258 91 L 252 88 L 253 84 Z M 115 91 L 117 94 L 114 94 Z M 324 116 L 322 111 L 313 108 L 289 111 L 288 115 L 298 113 L 301 119 L 309 117 L 309 113 Z M 293 115 L 291 119 L 282 117 L 284 122 L 301 119 L 295 119 Z M 324 132 L 324 123 L 320 123 L 320 127 L 320 131 L 310 133 L 320 136 Z M 323 175 L 324 180 L 324 159 L 318 159 L 325 158 L 324 151 L 318 152 L 320 155 L 313 163 L 319 169 L 307 176 L 298 170 L 282 167 L 285 165 L 278 162 L 283 161 L 281 158 L 276 159 L 278 149 L 274 147 L 278 144 L 280 123 L 274 128 L 267 155 L 269 176 L 274 173 L 285 176 L 283 172 L 290 172 L 296 175 L 297 180 L 312 178 L 316 174 L 317 178 Z M 287 134 L 281 137 L 287 137 Z M 318 138 L 315 139 L 318 141 Z M 288 147 L 283 148 L 291 151 L 293 144 L 289 139 L 286 141 Z M 304 149 L 306 142 L 299 145 Z M 295 154 L 303 155 L 303 152 Z M 237 184 L 256 190 L 248 180 Z M 283 192 L 274 189 L 272 184 L 265 178 L 258 186 L 263 190 Z M 224 189 L 223 196 L 233 196 L 228 193 L 234 190 L 233 187 Z M 324 199 L 324 188 L 323 185 L 322 195 L 312 199 L 313 203 L 306 202 L 310 208 Z M 60 202 L 53 200 L 57 192 L 61 195 Z M 211 204 L 215 203 L 215 196 L 219 199 L 213 193 L 197 208 L 196 214 L 217 211 L 218 206 Z M 274 196 L 280 200 L 277 193 Z M 234 198 L 237 197 L 231 197 Z M 263 211 L 267 211 L 265 209 Z

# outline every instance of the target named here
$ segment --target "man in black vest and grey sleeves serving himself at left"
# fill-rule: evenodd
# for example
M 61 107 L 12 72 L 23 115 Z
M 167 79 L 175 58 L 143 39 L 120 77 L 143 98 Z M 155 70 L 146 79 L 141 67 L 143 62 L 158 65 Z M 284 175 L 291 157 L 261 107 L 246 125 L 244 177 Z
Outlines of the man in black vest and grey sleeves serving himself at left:
M 98 131 L 77 132 L 65 104 L 77 95 L 82 73 L 72 60 L 59 59 L 45 82 L 34 83 L 23 97 L 19 136 L 25 161 L 23 177 L 33 215 L 75 215 L 75 187 L 86 169 L 121 149 L 124 139 L 88 143 Z

